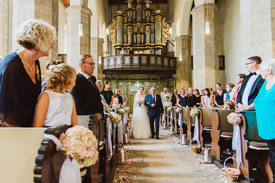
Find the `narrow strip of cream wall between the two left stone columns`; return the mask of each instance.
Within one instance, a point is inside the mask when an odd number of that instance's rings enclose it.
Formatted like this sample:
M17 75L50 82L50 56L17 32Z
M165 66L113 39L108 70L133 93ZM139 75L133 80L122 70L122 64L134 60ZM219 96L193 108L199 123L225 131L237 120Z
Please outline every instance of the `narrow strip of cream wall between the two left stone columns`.
M60 2L58 3L58 9L58 54L64 54L64 25L67 21L67 13Z

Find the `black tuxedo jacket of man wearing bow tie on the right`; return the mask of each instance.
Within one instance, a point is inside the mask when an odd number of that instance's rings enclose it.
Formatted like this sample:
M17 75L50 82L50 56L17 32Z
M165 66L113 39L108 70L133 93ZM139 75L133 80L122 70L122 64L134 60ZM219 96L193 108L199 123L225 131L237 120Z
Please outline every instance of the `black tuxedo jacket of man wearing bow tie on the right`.
M237 95L237 104L238 103L242 103L242 96L243 96L243 93L244 93L244 90L245 90L245 87L246 87L246 84L249 80L249 78L251 77L251 75L247 75L245 77L245 79L243 80L242 82L242 86L241 86L241 89ZM249 96L248 96L248 105L252 104L254 102L254 99L257 97L258 93L259 93L259 90L260 88L262 87L262 84L264 83L264 79L262 78L261 75L259 75L257 77L257 79L255 80L255 82L253 83L252 85L252 88L250 90L250 93L249 93Z

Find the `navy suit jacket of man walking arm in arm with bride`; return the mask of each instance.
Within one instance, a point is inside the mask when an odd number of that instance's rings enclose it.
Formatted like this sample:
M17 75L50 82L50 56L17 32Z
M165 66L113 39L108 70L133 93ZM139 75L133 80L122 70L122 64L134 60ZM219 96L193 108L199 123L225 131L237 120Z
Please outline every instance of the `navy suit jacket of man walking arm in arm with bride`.
M161 96L158 94L156 95L156 103L153 100L153 96L151 94L146 95L145 97L145 106L148 107L148 116L154 116L155 114L160 116L161 113L164 113L163 105L161 102ZM149 102L149 104L147 103ZM155 103L155 107L152 107L152 104Z

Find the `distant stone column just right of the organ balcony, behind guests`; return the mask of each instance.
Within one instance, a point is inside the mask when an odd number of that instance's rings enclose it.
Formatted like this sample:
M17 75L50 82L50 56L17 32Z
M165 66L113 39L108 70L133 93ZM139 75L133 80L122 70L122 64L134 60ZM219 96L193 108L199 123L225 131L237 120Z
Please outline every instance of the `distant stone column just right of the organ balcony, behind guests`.
M175 37L175 57L177 57L176 89L191 87L191 39L189 35ZM182 54L182 61L179 60ZM173 91L174 92L174 91ZM173 93L171 92L171 93Z

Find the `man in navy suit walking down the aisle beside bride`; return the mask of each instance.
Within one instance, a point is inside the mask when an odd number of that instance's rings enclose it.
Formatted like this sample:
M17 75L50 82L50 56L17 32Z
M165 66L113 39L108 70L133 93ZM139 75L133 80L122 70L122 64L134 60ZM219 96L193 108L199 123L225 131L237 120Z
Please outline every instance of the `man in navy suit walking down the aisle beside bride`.
M152 86L151 88L151 94L147 95L145 97L145 106L148 107L148 116L149 116L149 122L150 122L150 128L152 137L159 139L159 117L160 115L164 113L163 105L161 102L161 96L156 94L157 88L155 86ZM154 128L154 121L156 130Z

